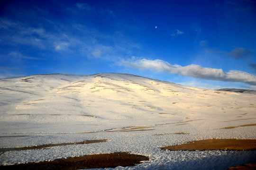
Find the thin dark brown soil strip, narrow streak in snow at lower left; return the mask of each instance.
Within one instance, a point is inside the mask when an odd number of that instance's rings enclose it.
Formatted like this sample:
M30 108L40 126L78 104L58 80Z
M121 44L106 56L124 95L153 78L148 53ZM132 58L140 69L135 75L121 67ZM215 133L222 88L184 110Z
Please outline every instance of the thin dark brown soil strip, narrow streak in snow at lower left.
M17 147L17 148L0 148L0 152L6 151L18 151L18 150L30 150L30 149L43 149L53 146L64 146L64 145L71 145L71 144L92 144L92 143L100 143L100 142L107 142L107 139L101 140L87 140L83 142L75 142L75 143L62 143L62 144L43 144L39 146L28 146L28 147Z

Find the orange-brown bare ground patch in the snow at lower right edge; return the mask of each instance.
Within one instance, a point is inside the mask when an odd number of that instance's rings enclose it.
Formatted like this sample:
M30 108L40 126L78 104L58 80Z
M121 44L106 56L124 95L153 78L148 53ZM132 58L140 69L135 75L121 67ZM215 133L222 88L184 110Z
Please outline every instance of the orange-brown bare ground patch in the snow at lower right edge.
M256 150L256 139L206 139L192 141L187 144L162 147L172 151L204 151L204 150Z

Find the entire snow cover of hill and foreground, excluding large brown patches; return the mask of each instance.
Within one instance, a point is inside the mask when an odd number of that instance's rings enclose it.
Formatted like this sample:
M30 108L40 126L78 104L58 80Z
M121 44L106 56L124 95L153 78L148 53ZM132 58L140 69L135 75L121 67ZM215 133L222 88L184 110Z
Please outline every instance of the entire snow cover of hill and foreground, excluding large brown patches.
M160 149L211 138L256 139L256 94L230 91L115 73L1 79L0 148L108 142L2 152L0 165L125 151L150 160L116 169L223 170L251 163L256 151Z

